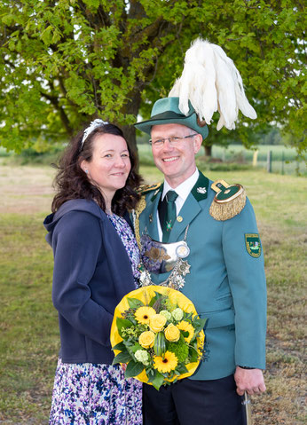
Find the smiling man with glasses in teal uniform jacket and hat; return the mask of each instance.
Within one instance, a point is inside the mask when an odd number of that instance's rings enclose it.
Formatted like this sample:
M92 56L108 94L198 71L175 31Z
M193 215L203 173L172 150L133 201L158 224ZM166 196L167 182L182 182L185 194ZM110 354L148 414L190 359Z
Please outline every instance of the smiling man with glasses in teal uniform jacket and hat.
M151 119L135 124L151 134L153 160L164 175L162 185L144 191L137 236L141 242L148 237L160 241L166 250L168 244L185 241L190 268L178 288L208 319L205 354L196 373L159 391L144 385L144 423L241 425L241 396L265 390L264 257L242 187L223 180L213 184L196 168L195 154L208 127L189 106L182 114L179 98L161 98ZM175 216L169 218L174 203ZM147 264L148 249L142 256ZM151 273L154 284L171 284L166 270L161 264L160 273Z

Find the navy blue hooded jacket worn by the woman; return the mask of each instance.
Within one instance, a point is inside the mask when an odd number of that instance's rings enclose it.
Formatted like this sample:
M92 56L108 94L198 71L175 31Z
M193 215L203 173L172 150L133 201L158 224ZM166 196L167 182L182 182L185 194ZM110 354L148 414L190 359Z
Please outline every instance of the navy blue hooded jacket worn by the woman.
M135 289L122 240L94 201L67 201L43 224L54 256L59 357L64 363L111 364L114 308Z

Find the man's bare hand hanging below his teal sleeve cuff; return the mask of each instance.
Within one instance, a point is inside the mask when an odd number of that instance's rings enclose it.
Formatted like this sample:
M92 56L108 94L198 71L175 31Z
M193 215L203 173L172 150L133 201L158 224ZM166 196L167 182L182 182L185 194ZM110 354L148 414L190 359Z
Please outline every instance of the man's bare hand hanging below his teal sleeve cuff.
M234 380L237 384L237 393L239 396L243 396L244 391L252 395L266 390L264 375L261 369L242 369L240 366L237 366Z

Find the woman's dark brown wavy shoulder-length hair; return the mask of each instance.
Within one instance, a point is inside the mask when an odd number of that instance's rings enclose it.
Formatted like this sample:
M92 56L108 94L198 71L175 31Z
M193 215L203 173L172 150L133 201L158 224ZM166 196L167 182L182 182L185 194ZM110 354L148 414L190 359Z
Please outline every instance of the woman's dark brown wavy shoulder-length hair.
M71 140L59 160L59 165L55 165L59 171L53 182L57 193L52 201L52 212L57 211L64 202L75 199L94 200L101 209L106 209L106 202L102 193L99 191L97 185L90 182L86 173L81 168L81 162L83 160L91 161L94 140L98 135L113 134L114 136L121 136L123 138L122 130L114 124L105 123L99 125L95 130L91 131L91 134L85 138L82 144L84 130L80 131ZM114 143L116 142L114 141ZM127 146L131 163L130 173L126 184L122 189L116 191L112 200L112 210L119 216L122 216L126 209L133 209L136 206L140 198L136 189L142 181L142 178L137 172L137 158L131 151L128 143Z

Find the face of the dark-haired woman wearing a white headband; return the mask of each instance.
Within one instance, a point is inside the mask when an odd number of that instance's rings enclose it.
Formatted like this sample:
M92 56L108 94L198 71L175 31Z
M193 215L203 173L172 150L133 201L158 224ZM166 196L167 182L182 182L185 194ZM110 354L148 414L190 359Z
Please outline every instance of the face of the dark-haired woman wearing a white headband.
M91 161L83 160L81 168L97 185L106 200L126 184L131 163L126 140L113 134L98 134L93 141Z

